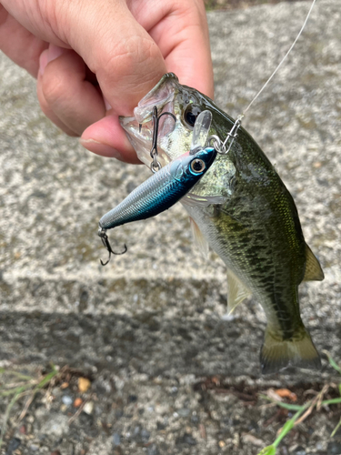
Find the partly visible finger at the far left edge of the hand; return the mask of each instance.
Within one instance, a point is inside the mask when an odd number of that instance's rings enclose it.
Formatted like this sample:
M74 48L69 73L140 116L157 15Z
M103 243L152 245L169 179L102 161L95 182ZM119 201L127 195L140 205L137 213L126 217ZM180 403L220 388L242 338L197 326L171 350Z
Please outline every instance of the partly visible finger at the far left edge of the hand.
M16 65L22 66L30 75L36 77L39 56L47 46L45 41L32 35L0 5L0 49Z

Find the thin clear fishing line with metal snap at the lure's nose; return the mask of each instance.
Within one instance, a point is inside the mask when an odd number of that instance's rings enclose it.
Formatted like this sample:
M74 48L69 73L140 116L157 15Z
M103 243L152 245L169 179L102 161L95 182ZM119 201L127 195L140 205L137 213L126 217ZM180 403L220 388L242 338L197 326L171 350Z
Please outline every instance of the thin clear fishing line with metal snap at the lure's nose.
M306 20L305 22L303 23L300 31L298 32L298 35L296 36L296 39L294 41L294 43L290 46L289 50L286 52L286 55L282 58L282 60L279 62L279 64L276 66L276 69L275 71L273 72L273 74L267 79L266 83L264 86L262 86L262 88L259 90L259 92L256 94L256 96L252 99L251 103L246 107L245 111L243 112L243 114L240 114L239 116L236 117L236 122L234 124L234 126L232 126L231 130L229 133L227 133L227 136L226 136L226 139L224 141L224 143L222 144L222 141L219 139L219 137L217 136L210 136L208 137L208 141L212 141L214 146L216 147L216 150L217 152L220 154L220 155L226 155L226 153L228 153L232 147L232 144L234 143L235 139L236 139L236 136L237 136L237 132L238 132L238 129L239 127L242 125L242 120L244 118L244 116L246 115L246 112L248 111L248 109L254 104L254 102L256 101L257 97L263 92L263 90L266 88L266 86L268 85L268 83L271 81L271 79L276 75L276 72L279 70L279 68L283 65L283 63L285 62L286 60L286 57L290 54L290 52L293 50L294 46L296 45L296 42L298 40L298 38L300 37L300 35L302 35L302 32L303 30L305 29L306 27L306 23L309 19L309 16L314 8L314 5L316 4L316 0L313 0L313 3L311 4L310 6L310 9L308 11L308 14L306 15ZM227 147L227 148L226 148Z

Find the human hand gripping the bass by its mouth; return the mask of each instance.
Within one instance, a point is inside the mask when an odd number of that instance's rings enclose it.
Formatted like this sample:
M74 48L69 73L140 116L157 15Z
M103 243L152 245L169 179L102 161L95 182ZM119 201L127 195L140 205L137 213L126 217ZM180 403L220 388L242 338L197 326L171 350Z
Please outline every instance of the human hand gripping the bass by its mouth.
M0 49L37 77L55 125L126 162L138 159L118 116L162 75L213 96L202 0L1 0Z

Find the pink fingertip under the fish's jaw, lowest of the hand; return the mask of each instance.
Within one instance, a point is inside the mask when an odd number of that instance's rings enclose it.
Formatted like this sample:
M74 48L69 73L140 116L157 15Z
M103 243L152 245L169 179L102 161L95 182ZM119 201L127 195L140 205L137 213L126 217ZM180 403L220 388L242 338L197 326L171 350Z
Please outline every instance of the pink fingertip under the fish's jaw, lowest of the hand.
M108 115L85 129L80 143L83 147L103 157L115 157L126 163L140 163L118 116Z

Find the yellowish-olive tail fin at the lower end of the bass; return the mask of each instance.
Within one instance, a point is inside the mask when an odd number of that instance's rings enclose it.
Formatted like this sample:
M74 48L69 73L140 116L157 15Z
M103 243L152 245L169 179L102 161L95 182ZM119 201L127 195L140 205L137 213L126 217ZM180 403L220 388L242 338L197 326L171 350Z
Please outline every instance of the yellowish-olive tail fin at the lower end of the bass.
M275 373L286 367L320 369L321 360L310 335L302 326L291 339L274 337L269 328L260 353L262 373Z

